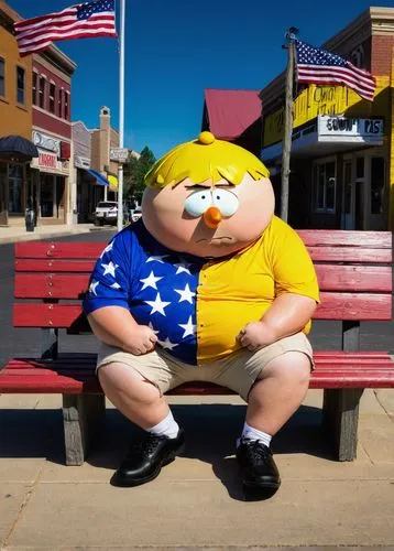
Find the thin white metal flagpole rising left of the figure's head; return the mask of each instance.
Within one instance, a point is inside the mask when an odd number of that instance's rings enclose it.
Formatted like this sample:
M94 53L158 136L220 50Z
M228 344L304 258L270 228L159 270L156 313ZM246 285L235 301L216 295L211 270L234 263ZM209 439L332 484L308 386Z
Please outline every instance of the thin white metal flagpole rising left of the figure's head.
M119 147L124 147L124 28L125 0L120 0L120 52L119 52ZM123 163L118 171L118 231L123 228Z

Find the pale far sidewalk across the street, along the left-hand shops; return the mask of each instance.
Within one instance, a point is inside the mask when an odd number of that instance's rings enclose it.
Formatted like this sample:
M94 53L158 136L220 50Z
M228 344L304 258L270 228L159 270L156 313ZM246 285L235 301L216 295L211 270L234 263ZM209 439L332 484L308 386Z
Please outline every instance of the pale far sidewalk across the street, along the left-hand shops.
M24 226L0 227L0 245L17 241L36 241L40 239L52 239L53 237L72 236L76 234L89 234L94 230L113 229L113 226L96 227L92 224L78 224L68 226L59 224L56 226L37 226L34 231L26 231Z

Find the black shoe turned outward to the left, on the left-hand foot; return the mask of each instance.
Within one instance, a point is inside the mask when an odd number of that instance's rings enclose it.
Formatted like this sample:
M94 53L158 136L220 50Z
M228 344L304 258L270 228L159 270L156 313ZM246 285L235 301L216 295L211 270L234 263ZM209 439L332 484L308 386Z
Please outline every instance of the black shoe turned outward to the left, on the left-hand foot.
M185 447L180 429L176 439L147 433L131 446L127 457L111 478L113 486L139 486L158 476L162 467L175 460Z

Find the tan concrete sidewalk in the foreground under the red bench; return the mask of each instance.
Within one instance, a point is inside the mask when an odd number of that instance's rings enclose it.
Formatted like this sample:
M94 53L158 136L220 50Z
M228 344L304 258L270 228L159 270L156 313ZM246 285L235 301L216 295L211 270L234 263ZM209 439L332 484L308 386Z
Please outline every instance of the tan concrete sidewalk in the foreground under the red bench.
M0 396L1 549L394 550L394 392L364 392L353 463L333 461L322 440L321 398L309 391L274 440L277 494L247 503L233 457L238 398L173 397L186 454L151 484L114 488L132 436L116 410L88 462L66 467L61 397Z

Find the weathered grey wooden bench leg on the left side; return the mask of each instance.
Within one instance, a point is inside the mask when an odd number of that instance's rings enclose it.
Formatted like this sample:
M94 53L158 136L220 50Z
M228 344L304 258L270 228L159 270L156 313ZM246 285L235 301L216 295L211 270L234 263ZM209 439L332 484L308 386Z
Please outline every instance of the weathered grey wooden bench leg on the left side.
M106 412L103 395L63 395L66 465L83 465Z

